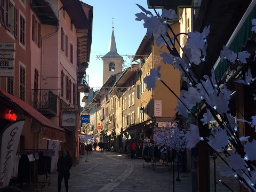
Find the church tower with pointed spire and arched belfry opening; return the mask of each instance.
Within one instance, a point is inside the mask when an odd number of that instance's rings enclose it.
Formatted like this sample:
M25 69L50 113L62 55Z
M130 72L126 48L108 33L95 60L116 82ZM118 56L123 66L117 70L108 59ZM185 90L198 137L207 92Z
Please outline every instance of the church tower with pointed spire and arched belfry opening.
M109 44L109 52L102 58L103 61L103 84L107 81L108 77L122 72L122 65L124 62L116 50L116 40L114 35L114 27L112 27L112 36Z

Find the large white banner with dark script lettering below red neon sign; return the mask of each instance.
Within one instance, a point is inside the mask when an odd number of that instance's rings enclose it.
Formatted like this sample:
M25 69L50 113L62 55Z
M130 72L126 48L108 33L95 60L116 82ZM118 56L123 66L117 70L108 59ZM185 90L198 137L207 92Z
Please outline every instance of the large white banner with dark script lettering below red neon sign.
M0 186L8 186L13 172L13 160L16 157L20 135L25 120L9 123L1 132L0 143Z

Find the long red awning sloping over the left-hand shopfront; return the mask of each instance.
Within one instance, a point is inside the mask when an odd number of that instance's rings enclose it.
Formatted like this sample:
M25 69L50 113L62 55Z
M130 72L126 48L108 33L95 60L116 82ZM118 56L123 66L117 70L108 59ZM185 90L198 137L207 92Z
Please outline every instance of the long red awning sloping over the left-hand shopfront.
M43 139L66 142L65 131L61 129L61 127L59 127L58 125L55 125L50 119L39 113L36 109L31 107L27 102L3 90L0 90L0 96L4 97L5 99L11 100L13 105L18 105L21 110L25 111L27 114L29 114L39 123L41 123L43 127Z

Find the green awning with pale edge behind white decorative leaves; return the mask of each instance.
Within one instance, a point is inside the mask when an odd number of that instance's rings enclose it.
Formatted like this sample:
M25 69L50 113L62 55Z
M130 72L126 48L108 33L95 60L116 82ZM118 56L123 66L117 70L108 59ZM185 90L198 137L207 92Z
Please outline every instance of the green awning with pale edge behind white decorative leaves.
M256 18L256 1L252 1L246 12L244 13L242 19L238 23L234 33L229 38L226 46L231 51L238 53L242 50L249 39L252 38L253 31L252 29L252 19ZM220 62L220 57L215 62L214 73L218 80L221 79L222 75L226 72L229 63L225 60Z

